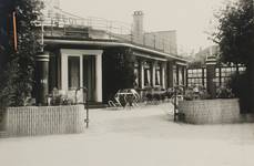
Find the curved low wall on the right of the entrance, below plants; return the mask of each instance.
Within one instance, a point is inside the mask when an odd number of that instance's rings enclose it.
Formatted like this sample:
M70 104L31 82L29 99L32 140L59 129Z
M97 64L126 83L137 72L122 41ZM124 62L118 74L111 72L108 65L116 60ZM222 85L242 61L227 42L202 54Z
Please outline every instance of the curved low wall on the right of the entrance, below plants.
M253 115L240 114L237 98L181 101L179 112L192 124L253 122Z

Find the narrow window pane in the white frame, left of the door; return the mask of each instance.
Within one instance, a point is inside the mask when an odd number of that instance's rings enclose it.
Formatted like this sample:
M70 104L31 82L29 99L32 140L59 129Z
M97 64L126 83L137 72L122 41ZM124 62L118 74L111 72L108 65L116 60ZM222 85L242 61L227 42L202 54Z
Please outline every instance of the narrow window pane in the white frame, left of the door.
M68 87L77 89L79 86L80 86L80 58L69 56L68 58Z

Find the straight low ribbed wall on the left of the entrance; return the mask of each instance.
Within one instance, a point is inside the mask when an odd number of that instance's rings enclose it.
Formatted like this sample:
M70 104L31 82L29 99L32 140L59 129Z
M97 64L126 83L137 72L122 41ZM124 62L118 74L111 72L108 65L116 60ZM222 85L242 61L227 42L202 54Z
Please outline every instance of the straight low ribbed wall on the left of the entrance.
M9 107L3 127L8 136L81 133L84 118L83 105Z

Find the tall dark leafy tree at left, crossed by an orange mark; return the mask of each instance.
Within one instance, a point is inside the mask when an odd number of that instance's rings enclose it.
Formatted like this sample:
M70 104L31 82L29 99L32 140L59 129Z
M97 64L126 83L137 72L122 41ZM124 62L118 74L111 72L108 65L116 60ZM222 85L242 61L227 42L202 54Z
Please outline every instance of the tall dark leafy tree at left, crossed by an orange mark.
M2 3L6 9L1 20L8 22L8 43L1 45L0 105L20 106L31 95L34 55L39 52L37 20L43 7L40 0L11 0ZM17 50L13 49L12 15L16 15ZM11 22L11 21L12 22Z

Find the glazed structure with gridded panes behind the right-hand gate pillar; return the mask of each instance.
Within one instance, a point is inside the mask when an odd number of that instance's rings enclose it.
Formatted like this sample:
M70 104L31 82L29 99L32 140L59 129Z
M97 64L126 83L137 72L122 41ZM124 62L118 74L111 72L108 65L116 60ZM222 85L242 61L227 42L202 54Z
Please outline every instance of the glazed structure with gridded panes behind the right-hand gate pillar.
M210 58L213 59L213 74L212 82L214 84L214 92L221 86L227 86L232 75L241 74L246 69L242 64L223 64L219 61L220 49L219 45L211 45L200 50L193 61L190 63L186 79L187 86L204 86L207 87L207 64L211 64Z

